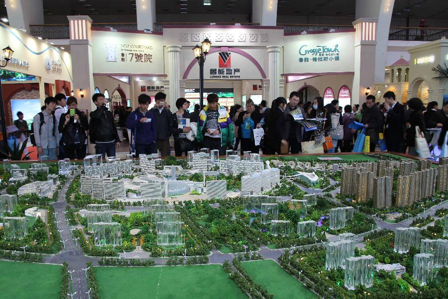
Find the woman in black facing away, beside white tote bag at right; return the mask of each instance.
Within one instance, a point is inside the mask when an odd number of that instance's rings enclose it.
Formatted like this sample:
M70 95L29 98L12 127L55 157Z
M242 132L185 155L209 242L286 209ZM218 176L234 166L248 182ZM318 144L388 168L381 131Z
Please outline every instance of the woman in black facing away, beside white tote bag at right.
M409 154L418 155L415 149L415 128L419 127L420 132L425 133L425 120L423 118L423 103L419 98L412 98L408 101L408 107L412 110L409 120L406 123L406 141L409 147Z

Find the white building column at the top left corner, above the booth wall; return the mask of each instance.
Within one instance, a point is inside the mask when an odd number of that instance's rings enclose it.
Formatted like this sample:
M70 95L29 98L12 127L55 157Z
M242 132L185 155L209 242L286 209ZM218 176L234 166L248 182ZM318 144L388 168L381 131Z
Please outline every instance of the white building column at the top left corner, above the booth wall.
M29 32L29 25L41 25L43 20L42 0L5 0L9 25Z

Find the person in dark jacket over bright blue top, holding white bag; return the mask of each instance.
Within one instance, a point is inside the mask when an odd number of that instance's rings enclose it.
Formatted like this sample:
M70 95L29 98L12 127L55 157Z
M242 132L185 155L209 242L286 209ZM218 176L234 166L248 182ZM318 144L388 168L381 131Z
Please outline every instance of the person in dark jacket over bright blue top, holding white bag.
M241 143L241 154L244 151L250 151L254 153L259 152L259 146L255 146L253 140L253 129L257 128L257 125L261 121L261 115L258 109L255 108L255 104L252 99L246 101L246 111L239 113L238 119L235 121L235 126L239 127L239 140ZM258 125L258 127L260 127Z

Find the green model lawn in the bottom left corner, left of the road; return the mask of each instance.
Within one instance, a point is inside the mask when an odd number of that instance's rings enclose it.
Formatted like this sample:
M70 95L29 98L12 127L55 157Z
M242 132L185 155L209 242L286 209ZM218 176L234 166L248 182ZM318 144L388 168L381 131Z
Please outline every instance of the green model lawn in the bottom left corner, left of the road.
M57 299L61 266L0 261L0 298Z

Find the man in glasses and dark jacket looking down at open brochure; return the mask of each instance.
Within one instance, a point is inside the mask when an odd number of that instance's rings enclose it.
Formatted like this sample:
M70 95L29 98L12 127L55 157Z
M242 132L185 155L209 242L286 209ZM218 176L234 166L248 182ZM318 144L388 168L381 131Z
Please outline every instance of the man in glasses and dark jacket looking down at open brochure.
M294 121L292 115L288 115L291 111L300 109L302 116L305 115L305 111L299 106L300 98L297 91L293 91L289 95L289 103L285 108L285 135L283 136L289 142L291 147L291 153L299 153L302 151L302 125Z

